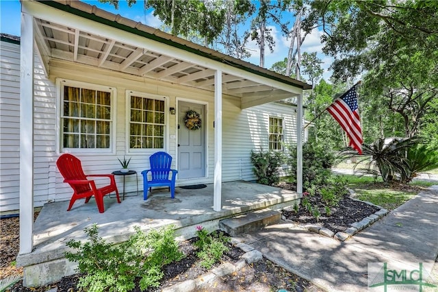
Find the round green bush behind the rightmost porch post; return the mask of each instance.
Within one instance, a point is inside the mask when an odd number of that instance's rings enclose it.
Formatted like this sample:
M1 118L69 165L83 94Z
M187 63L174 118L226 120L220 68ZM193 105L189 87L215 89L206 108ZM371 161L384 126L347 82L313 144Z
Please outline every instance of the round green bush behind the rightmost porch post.
M296 145L288 145L287 164L290 177L296 182ZM335 156L331 150L322 145L304 143L302 145L302 184L305 188L323 186L331 176L331 167Z

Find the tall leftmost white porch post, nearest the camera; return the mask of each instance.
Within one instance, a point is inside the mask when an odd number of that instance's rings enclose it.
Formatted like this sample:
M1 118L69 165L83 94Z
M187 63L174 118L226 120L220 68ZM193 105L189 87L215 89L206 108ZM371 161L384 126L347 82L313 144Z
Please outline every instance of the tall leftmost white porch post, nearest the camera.
M21 14L20 254L34 245L34 17Z

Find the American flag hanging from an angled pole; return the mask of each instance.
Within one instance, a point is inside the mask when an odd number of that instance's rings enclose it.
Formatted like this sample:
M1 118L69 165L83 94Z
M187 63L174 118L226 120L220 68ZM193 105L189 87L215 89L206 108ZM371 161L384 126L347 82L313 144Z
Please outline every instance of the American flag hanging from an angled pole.
M350 138L348 146L362 154L362 129L359 108L357 107L356 86L353 86L342 97L339 97L327 108L330 114L341 125Z

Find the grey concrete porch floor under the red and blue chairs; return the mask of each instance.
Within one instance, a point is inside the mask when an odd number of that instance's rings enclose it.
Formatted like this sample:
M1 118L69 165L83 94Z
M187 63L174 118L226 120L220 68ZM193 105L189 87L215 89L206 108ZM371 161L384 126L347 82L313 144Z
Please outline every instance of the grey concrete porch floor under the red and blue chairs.
M88 204L77 200L69 212L68 202L45 204L34 223L34 251L17 257L17 265L24 267L24 284L39 286L75 273L75 265L64 258L66 242L86 240L83 230L94 223L99 226L99 236L113 243L126 241L134 226L147 231L170 224L178 239L188 239L195 236L198 225L213 231L222 219L262 208L281 210L300 198L294 191L243 181L222 183L220 212L213 210L213 184L199 189L177 187L175 199L170 198L168 188L153 189L146 201L142 191L127 195L122 200L120 193L121 204L113 195L105 196L103 213L94 199Z

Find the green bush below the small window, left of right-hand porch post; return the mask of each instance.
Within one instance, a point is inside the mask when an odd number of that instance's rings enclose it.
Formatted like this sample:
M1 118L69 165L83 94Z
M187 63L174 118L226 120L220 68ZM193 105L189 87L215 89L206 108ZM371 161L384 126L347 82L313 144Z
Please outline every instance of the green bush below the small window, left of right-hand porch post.
M253 172L257 177L259 184L278 184L280 181L279 167L283 163L284 156L281 152L276 151L259 151L251 150L251 163L253 163Z

